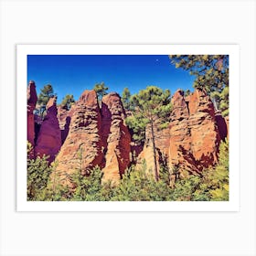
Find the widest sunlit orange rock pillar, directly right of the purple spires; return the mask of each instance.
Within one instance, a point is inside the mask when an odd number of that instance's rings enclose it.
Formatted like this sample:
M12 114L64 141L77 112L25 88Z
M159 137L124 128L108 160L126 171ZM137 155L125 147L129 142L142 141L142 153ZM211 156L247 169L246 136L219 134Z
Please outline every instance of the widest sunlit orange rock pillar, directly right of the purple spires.
M104 165L101 112L95 91L83 91L73 105L69 133L56 160L61 182L73 187L70 175L80 170L87 175L94 166Z

